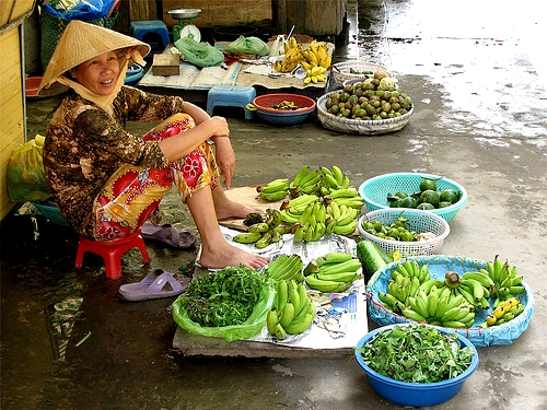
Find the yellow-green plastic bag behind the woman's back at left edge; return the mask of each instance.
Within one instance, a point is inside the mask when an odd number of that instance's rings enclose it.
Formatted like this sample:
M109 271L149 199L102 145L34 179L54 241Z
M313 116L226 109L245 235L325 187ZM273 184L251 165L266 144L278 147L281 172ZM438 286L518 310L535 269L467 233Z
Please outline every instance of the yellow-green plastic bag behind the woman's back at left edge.
M8 192L13 202L44 201L51 196L47 185L42 151L44 137L15 148L8 164Z

